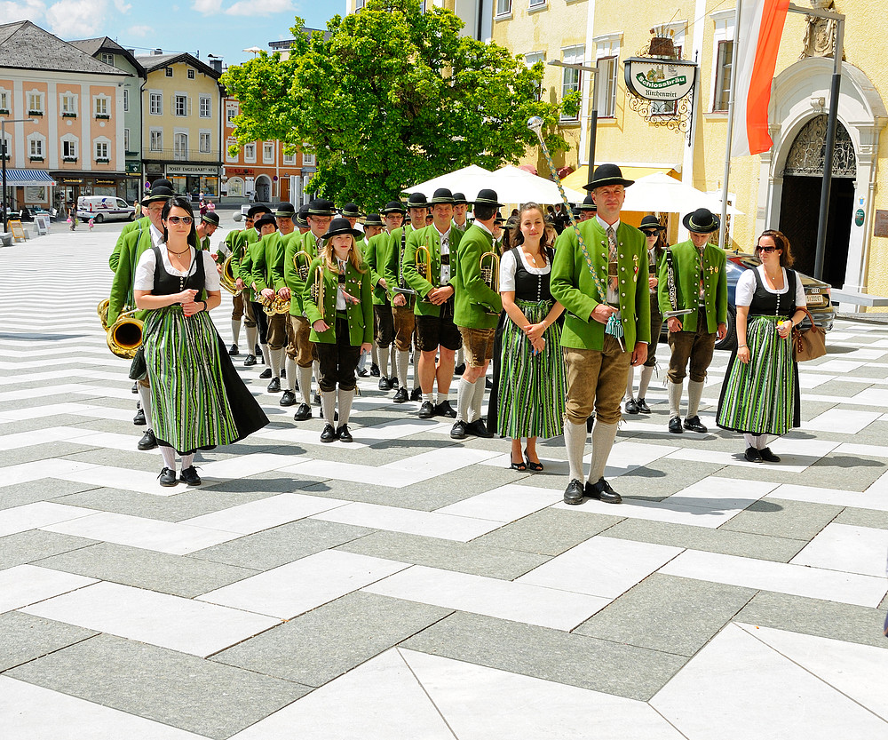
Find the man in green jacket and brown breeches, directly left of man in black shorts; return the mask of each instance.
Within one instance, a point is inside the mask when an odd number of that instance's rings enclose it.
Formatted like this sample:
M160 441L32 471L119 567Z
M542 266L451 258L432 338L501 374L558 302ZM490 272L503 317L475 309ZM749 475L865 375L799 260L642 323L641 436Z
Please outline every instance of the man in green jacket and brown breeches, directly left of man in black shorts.
M389 203L391 205L391 203ZM408 237L417 228L424 228L425 215L429 211L428 201L422 193L410 194L407 211L410 223L402 227L395 227L380 247L377 258L382 264L382 276L385 278L385 291L392 303L392 322L394 323L394 348L397 353L398 366L398 390L392 401L406 403L408 401L422 400L422 391L419 388L418 361L414 370L413 394L408 394L407 371L410 363L410 347L413 343L413 334L416 328L416 313L414 304L416 296L410 293L398 292L400 290L412 290L407 283L404 274L404 251L407 249ZM401 212L403 216L403 212ZM403 220L403 219L402 219ZM377 267L377 272L379 268ZM416 359L416 358L415 358Z

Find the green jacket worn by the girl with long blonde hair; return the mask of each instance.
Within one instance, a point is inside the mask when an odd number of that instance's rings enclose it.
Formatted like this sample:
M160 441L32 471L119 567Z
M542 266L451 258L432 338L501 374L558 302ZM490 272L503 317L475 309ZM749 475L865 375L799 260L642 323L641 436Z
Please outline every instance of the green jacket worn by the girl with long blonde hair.
M339 275L323 267L323 259L316 257L312 261L312 267L308 271L308 280L305 282L305 290L302 294L305 305L305 317L309 323L323 319L329 325L329 329L318 333L312 327L311 340L321 344L336 344L336 296ZM312 286L317 279L317 268L323 267L324 281L324 305L323 312L312 298ZM351 346L361 346L365 342L373 341L373 300L370 296L370 273L367 266L363 266L361 272L351 262L345 266L345 292L360 298L361 303L345 304L345 313L348 316L348 343Z

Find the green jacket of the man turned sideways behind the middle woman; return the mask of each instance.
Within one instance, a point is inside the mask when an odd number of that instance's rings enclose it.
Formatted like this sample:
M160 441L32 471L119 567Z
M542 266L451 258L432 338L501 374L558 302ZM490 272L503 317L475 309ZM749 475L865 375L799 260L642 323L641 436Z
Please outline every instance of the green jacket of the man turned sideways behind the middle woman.
M455 230L451 228L450 233L453 234ZM454 308L456 326L469 329L494 329L496 322L499 321L499 314L503 311L503 299L481 278L481 255L488 251L496 252L493 235L472 224L459 240L456 261L450 260L451 267L456 267L451 280L456 290ZM499 267L493 265L494 261L488 258L485 264L490 263L498 281Z

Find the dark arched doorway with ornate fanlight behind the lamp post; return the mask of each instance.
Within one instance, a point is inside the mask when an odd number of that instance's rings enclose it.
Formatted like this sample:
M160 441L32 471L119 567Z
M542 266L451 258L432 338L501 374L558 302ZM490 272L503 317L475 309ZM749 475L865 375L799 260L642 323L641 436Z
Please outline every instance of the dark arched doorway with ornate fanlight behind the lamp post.
M815 115L805 123L789 147L782 172L779 228L792 244L795 267L807 275L814 273L826 131L826 115ZM848 264L854 210L854 179L857 177L854 145L842 123L838 123L836 129L832 167L823 280L835 288L841 288Z

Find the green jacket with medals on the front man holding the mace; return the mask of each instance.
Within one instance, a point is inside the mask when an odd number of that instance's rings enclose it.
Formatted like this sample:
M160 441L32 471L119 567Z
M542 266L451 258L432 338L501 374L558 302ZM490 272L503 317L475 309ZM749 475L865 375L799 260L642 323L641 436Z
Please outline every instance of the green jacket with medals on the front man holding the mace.
M607 234L597 219L579 225L583 242L602 284L607 285ZM620 315L623 345L631 352L637 342L651 340L651 298L647 286L647 244L636 227L620 223L616 230L617 276L620 280ZM551 293L565 307L561 346L575 349L604 348L605 324L591 318L601 302L574 229L565 229L555 243Z

